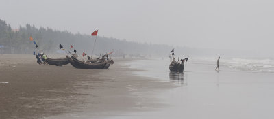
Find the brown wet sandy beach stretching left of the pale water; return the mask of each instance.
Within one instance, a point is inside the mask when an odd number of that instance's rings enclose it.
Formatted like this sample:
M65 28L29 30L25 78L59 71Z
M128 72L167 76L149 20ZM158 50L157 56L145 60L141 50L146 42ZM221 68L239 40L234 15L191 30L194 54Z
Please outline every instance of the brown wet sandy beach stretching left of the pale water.
M115 61L115 59L114 59ZM156 96L174 87L110 69L37 65L32 55L0 55L0 118L107 118L164 106Z

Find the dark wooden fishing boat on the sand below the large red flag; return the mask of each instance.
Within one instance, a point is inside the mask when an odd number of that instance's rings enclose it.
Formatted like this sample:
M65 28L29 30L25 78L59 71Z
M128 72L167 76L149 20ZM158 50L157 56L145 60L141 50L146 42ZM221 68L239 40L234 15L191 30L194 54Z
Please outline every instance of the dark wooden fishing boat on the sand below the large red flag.
M75 68L81 68L81 69L105 69L105 65L107 63L91 63L91 62L84 62L79 61L74 56L71 56L73 59L73 62L71 62L71 65Z

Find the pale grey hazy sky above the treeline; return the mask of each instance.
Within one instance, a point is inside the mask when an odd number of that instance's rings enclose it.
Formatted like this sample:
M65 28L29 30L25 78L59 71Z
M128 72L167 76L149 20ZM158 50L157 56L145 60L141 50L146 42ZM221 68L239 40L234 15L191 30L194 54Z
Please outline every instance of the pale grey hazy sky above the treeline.
M273 0L0 0L0 18L72 33L197 48L273 51Z

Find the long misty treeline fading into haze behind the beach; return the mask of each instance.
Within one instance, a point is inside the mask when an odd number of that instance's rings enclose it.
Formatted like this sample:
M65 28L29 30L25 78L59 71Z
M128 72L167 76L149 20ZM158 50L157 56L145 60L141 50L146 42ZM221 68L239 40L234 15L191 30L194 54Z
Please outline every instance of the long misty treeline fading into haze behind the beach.
M85 52L90 55L95 42L95 37L91 35L74 34L69 31L58 31L44 27L36 28L30 24L27 24L25 27L19 27L19 29L12 29L10 24L0 19L0 54L33 54L35 45L33 41L29 40L31 36L36 41L40 52L45 52L45 54L60 53L62 50L60 50L59 44L62 44L66 50L69 50L72 44L77 53L82 54L82 52ZM182 57L242 56L242 52L233 50L187 48L179 47L184 46L184 44L177 45L175 54ZM174 47L164 44L136 43L97 36L94 54L105 54L113 50L113 56L169 56L172 48ZM245 52L244 54L248 53Z

